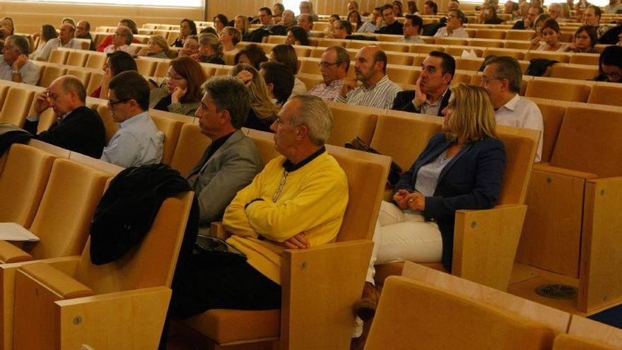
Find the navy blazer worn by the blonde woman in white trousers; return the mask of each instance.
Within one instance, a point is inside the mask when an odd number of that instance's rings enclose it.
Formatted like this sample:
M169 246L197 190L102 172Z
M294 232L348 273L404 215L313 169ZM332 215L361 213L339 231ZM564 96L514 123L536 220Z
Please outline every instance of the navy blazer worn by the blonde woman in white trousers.
M451 143L446 134L435 134L411 168L401 175L394 191L415 192L419 169L433 162ZM459 209L491 209L499 199L505 147L498 139L484 137L464 145L438 176L433 197L426 197L426 220L435 221L442 235L442 264L452 271L455 214Z

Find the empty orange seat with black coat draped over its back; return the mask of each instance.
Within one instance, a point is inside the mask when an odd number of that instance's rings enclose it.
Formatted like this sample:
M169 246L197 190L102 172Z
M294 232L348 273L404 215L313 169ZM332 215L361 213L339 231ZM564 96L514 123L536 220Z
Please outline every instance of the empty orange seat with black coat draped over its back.
M166 199L142 242L114 262L93 264L89 241L81 257L23 264L14 349L156 349L193 197Z

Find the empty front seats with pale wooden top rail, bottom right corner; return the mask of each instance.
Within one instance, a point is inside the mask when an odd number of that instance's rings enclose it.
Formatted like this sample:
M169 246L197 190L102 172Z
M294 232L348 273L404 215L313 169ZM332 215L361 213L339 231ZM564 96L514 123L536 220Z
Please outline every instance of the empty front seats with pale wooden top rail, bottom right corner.
M441 306L442 305L442 306ZM613 350L622 330L407 263L385 281L367 350Z

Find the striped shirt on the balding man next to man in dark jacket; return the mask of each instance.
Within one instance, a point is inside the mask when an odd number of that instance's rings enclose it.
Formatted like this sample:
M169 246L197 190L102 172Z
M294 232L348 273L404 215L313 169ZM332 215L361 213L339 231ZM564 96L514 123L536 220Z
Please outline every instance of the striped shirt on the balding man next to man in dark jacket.
M347 103L348 105L358 105L365 107L376 107L391 109L393 106L393 100L397 93L401 91L401 88L396 83L389 80L389 77L385 75L380 79L376 85L370 88L360 86L359 88L350 91L346 98L342 98L337 95L335 102Z

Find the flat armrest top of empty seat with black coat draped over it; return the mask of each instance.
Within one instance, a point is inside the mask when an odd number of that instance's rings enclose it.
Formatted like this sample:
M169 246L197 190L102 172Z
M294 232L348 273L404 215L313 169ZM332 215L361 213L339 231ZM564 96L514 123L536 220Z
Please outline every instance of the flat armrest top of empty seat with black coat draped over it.
M64 274L60 270L44 262L25 264L23 267L20 267L20 270L30 275L33 279L36 279L40 284L51 289L62 298L81 298L83 296L93 295L93 291L88 288L88 286L81 284L71 276Z

